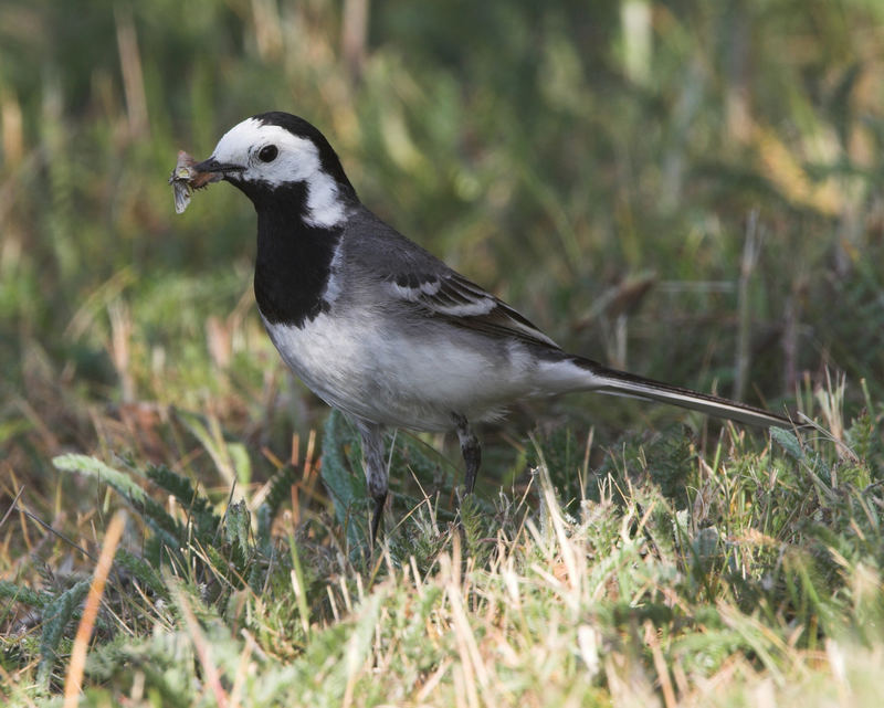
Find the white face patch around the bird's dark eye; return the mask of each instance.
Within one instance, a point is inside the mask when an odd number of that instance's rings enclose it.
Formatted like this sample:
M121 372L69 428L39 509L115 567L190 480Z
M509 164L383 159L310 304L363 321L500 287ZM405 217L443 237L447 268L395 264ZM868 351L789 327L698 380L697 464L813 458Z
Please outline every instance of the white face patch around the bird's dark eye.
M271 146L277 151L267 162L260 155ZM323 171L319 150L313 140L293 135L281 126L246 118L223 135L212 158L242 167L238 179L244 182L263 182L270 188L305 182L307 213L304 221L311 226L330 228L344 220L346 209L337 183Z

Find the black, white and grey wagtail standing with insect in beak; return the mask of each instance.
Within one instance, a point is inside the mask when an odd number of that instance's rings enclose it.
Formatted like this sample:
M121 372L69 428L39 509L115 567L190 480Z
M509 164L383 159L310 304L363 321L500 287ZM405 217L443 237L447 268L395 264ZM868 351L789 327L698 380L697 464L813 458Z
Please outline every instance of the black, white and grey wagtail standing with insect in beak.
M471 494L482 458L473 425L522 399L596 391L765 427L791 425L776 413L567 352L364 205L332 145L304 118L246 118L186 173L196 187L229 182L252 201L257 310L285 364L359 432L372 545L388 496L390 429L456 432Z

